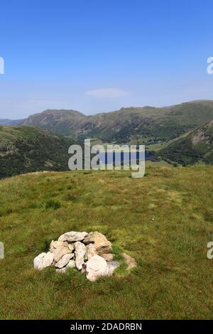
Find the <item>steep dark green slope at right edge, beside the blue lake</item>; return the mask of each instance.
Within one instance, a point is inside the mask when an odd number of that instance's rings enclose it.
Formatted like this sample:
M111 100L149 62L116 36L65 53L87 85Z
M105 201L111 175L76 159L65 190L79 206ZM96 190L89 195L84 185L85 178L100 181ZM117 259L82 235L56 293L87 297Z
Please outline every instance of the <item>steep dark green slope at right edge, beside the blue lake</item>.
M213 120L176 139L165 149L158 151L158 154L165 160L184 166L198 161L213 164Z

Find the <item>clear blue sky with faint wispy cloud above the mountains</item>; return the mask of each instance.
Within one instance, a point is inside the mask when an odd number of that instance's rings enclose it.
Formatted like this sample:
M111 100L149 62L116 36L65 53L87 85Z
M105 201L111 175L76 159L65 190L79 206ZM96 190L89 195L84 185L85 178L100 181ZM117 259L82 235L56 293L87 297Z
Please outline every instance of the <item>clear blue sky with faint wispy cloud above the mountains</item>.
M212 1L1 0L0 118L213 99Z

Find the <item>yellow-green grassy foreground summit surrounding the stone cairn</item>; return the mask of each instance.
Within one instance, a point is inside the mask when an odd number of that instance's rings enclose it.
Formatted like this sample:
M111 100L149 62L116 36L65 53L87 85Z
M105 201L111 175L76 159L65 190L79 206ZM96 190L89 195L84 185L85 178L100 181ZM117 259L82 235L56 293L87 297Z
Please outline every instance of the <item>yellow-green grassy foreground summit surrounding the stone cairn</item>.
M212 318L213 167L41 173L0 181L1 319ZM12 204L11 204L12 203ZM77 271L34 271L67 230L103 232L124 264L91 283ZM15 302L14 302L15 301Z

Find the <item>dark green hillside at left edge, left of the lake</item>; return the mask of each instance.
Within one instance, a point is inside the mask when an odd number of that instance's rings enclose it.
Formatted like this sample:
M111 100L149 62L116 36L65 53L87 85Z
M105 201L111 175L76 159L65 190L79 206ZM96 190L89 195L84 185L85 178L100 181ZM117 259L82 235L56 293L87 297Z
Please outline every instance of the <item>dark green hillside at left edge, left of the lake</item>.
M67 171L73 143L33 126L0 126L0 178L35 171Z

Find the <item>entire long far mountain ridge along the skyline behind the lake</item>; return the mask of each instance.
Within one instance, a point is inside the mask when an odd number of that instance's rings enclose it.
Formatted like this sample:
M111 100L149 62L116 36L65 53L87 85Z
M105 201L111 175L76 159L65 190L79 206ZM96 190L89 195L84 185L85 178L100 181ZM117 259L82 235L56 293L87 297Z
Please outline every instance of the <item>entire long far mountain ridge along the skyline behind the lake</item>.
M170 107L129 107L85 116L74 110L46 110L23 124L40 126L75 139L97 138L127 142L131 139L175 139L213 119L213 101L201 100Z

